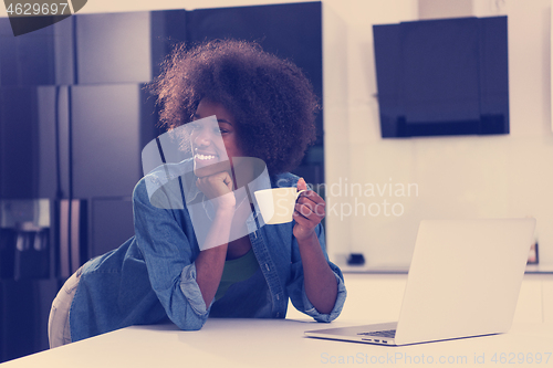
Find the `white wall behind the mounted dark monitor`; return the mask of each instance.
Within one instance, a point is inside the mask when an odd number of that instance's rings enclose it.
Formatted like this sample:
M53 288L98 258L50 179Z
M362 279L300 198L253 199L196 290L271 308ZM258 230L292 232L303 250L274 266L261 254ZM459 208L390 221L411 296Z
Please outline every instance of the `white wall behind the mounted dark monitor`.
M467 8L467 0L448 1L462 1L459 8ZM281 2L301 1L91 0L81 13ZM430 2L420 0L421 13L431 13L424 8ZM417 20L419 1L323 0L323 4L331 256L355 251L365 253L369 264L408 263L420 219L533 215L541 261L553 263L550 0L472 0L477 17L509 17L509 136L400 140L380 138L372 25ZM0 17L6 17L3 7ZM373 185L375 196L365 196L365 190L362 196L346 196L345 182ZM409 183L418 192L411 187L409 197L398 197L396 189ZM334 196L328 193L333 185ZM383 196L377 186L386 186ZM355 200L357 215L353 215ZM396 213L403 209L401 215L390 214L394 203ZM365 210L372 206L373 213L379 207L380 214L361 215L362 204ZM353 213L347 215L349 208Z

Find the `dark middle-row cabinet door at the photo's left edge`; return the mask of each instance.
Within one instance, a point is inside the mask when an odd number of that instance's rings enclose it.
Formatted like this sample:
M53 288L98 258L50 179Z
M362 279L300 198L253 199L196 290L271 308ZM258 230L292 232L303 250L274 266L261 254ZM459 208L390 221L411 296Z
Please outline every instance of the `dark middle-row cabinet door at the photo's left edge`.
M66 86L0 87L0 198L66 198Z

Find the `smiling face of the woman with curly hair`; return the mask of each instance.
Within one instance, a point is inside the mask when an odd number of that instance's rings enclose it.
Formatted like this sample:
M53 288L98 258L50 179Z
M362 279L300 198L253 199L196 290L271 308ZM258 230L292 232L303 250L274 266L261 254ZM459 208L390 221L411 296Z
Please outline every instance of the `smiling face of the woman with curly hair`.
M194 174L197 177L210 176L223 170L230 170L233 157L242 157L239 145L237 124L233 116L218 103L201 99L196 113L195 120L215 115L217 123L210 120L189 123L192 125L190 143L194 154Z

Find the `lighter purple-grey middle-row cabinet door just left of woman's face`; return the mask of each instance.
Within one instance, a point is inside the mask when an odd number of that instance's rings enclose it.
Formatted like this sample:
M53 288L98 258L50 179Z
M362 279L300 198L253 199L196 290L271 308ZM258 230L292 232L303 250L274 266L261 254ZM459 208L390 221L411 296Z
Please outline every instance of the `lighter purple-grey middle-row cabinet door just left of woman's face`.
M140 85L71 88L73 198L128 197L142 177Z

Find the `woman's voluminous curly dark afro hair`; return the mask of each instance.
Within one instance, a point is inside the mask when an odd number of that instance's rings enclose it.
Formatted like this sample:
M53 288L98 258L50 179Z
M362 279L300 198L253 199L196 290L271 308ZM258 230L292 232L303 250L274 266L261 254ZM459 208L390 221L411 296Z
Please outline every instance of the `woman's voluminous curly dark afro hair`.
M180 44L149 88L168 129L190 122L202 98L225 106L237 123L241 149L264 160L270 174L295 168L316 138L319 103L311 83L295 64L258 43Z

